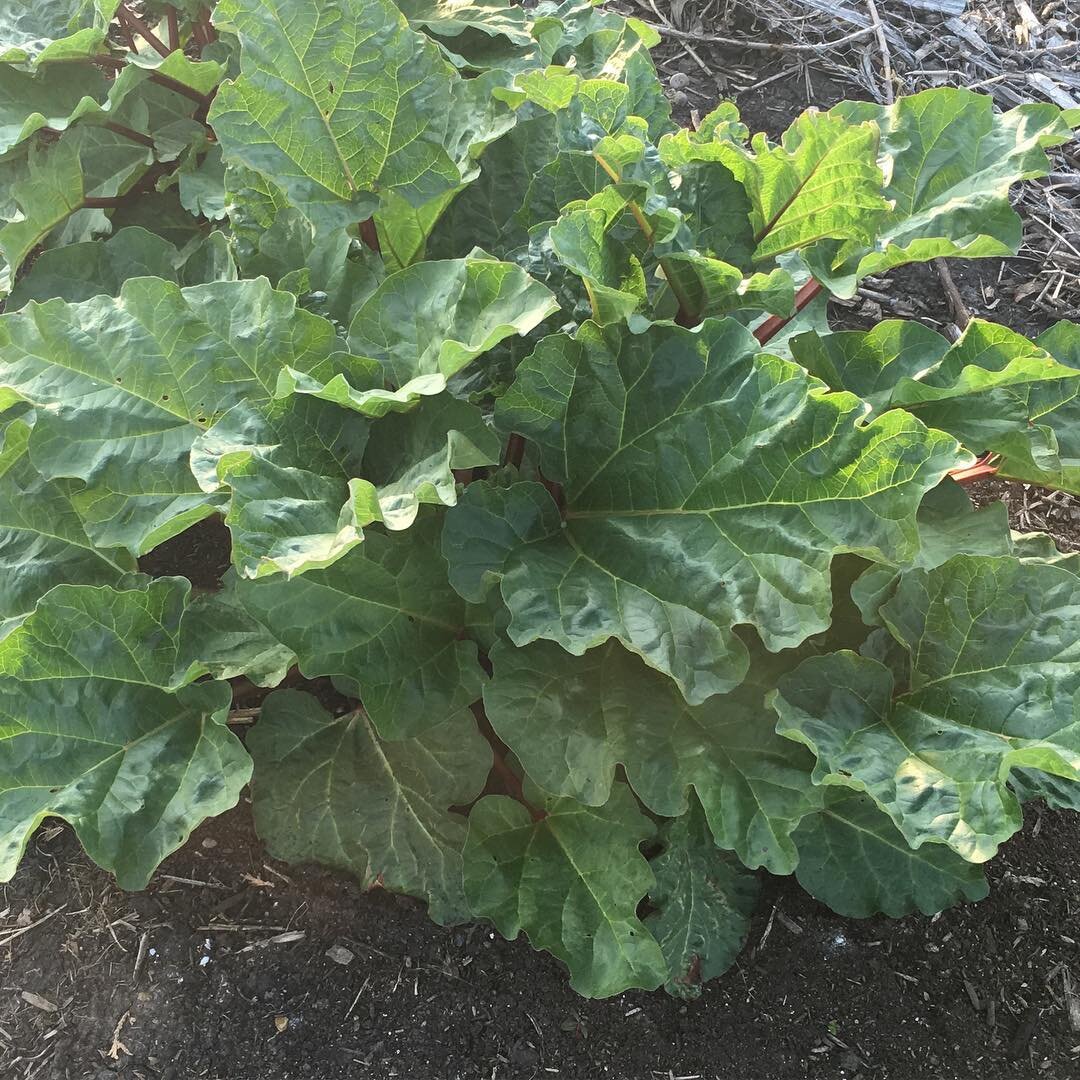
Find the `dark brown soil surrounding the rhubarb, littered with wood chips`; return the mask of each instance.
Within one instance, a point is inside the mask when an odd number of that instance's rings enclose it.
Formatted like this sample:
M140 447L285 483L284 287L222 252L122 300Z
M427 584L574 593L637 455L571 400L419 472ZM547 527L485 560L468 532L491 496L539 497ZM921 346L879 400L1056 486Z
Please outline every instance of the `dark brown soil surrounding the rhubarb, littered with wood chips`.
M879 6L897 27L910 21L906 5L895 5L900 16ZM704 13L717 33L753 26L738 2L648 8L688 25ZM997 8L1015 21L1013 4ZM1062 0L1038 10L1052 23L1055 8L1071 11ZM832 25L818 37L831 36ZM678 42L659 55L686 116L707 109L727 70L740 76L731 90L747 121L772 134L808 99L866 96L861 59L860 78L848 81L850 60L827 55L793 63L694 51L708 71ZM1080 238L1070 242L1080 247ZM1028 333L1050 325L1069 291L1034 302L1044 260L1032 251L954 266L963 303ZM843 325L892 313L944 332L956 320L923 267L872 283L833 312ZM1004 498L1016 527L1048 528L1080 550L1075 500L996 481L974 494ZM219 550L206 525L144 569L179 569L210 585ZM589 1002L524 940L504 942L482 924L442 929L407 899L268 860L246 804L207 823L135 894L91 865L70 829L46 823L0 887L0 1076L1077 1080L1080 819L1029 807L990 878L981 904L865 921L772 879L738 964L701 1001Z

